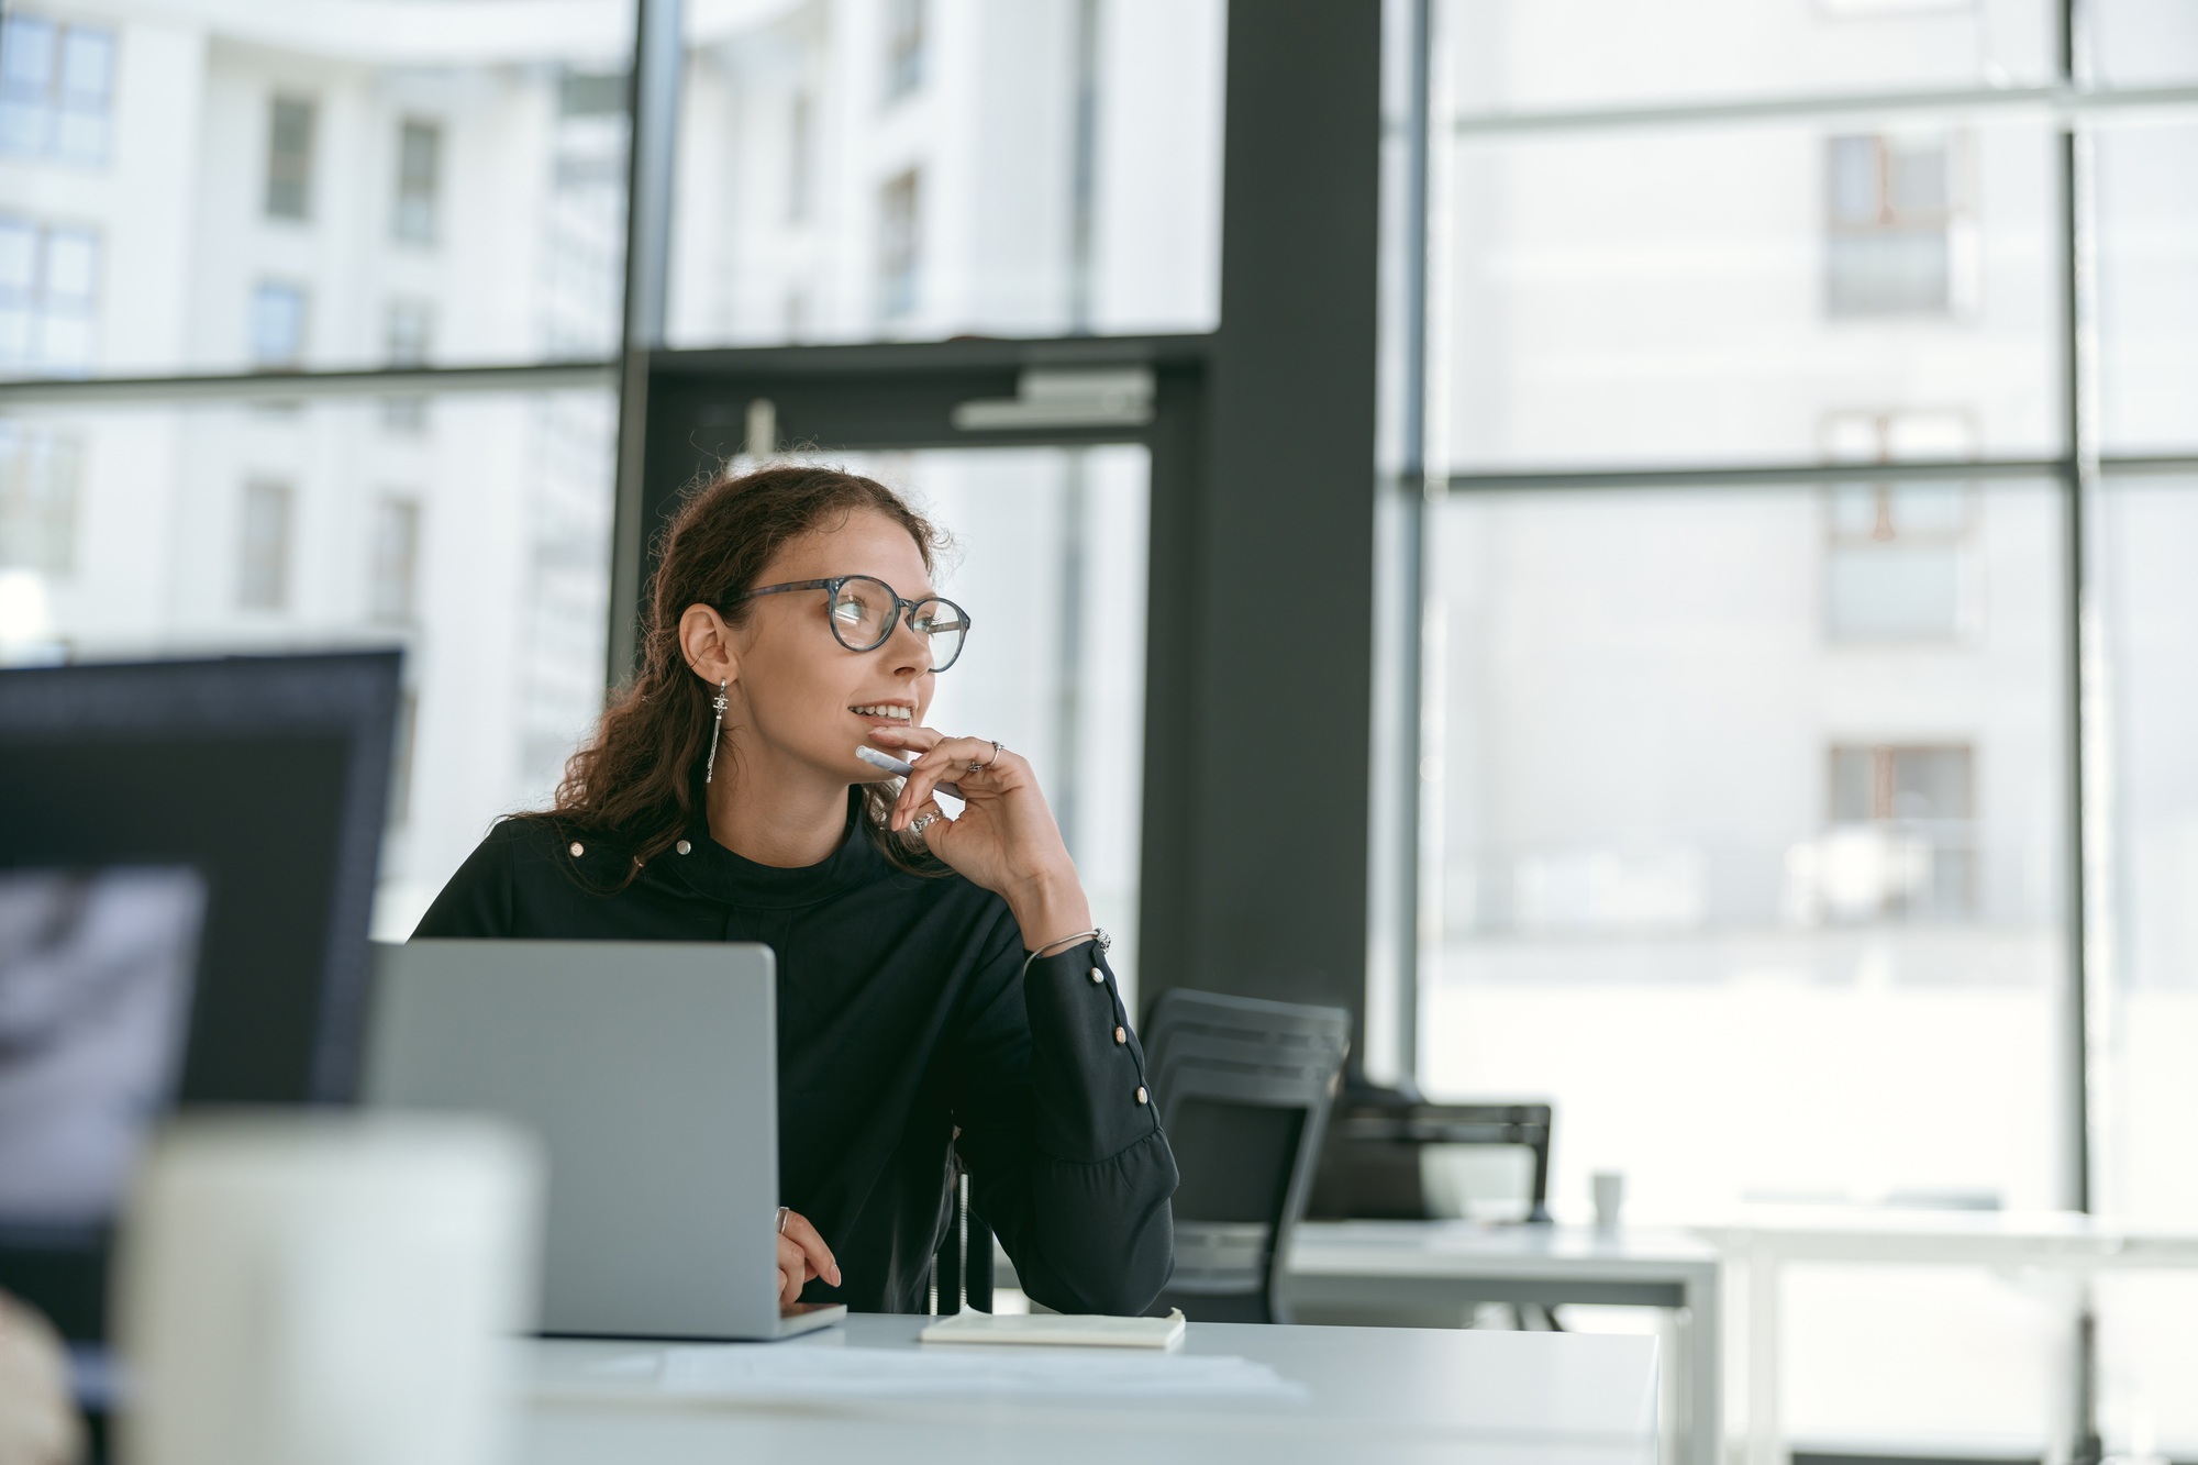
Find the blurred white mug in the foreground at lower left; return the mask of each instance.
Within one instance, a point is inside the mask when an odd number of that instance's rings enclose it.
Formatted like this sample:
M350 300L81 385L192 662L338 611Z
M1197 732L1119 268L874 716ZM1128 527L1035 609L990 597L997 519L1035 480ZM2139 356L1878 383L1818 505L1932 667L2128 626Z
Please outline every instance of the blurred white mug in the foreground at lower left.
M488 1120L231 1115L123 1227L132 1465L490 1465L534 1322L541 1157Z

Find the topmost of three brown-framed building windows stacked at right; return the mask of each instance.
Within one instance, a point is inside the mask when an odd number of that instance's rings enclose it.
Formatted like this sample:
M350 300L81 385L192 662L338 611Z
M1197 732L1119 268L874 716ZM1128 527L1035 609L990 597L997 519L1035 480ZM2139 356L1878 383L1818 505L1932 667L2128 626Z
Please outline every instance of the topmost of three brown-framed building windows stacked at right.
M1835 319L1974 308L1976 231L1956 143L1947 132L1831 139L1824 304Z

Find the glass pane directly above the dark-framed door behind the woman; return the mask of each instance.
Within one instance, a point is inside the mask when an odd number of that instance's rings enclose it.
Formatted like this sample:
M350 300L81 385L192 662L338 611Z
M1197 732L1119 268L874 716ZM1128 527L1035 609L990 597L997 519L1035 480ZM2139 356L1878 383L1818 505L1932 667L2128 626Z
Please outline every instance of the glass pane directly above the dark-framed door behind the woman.
M1211 330L1222 22L690 4L670 341Z

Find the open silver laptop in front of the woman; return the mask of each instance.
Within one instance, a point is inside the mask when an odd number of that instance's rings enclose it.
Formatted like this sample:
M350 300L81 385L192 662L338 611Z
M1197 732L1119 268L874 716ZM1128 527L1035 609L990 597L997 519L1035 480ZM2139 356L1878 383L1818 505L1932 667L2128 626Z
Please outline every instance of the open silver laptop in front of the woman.
M543 1331L789 1337L769 946L374 948L367 1104L503 1115L550 1155Z

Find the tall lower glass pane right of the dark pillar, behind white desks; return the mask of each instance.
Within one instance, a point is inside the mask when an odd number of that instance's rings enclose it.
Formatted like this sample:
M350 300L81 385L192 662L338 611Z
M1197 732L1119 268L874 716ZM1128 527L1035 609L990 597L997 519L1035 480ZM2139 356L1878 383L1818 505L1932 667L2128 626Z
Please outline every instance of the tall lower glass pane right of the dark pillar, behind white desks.
M1681 1221L2060 1203L2062 502L1930 504L1835 484L1442 508L1420 1080L1554 1100L1561 1214L1596 1170ZM1903 552L1868 539L1903 517L1963 541L1857 574ZM1961 634L1945 552L1976 585ZM1890 609L1842 623L1842 596ZM2044 1430L2060 1324L2020 1289L1842 1271L1787 1307L1802 1441ZM1857 1364L1888 1307L1925 1353L2009 1366Z

